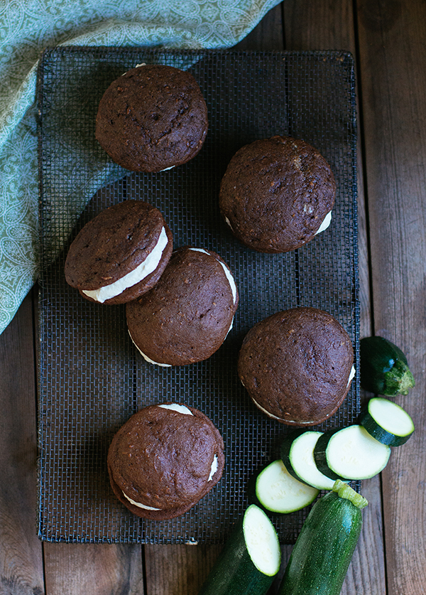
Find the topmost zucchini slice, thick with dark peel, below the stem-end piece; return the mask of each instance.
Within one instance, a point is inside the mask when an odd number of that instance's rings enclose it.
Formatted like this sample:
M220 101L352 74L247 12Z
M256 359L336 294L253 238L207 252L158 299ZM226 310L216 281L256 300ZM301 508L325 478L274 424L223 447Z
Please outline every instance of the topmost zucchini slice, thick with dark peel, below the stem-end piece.
M402 407L383 399L373 397L359 416L359 424L368 434L383 444L401 446L414 431L413 419Z

